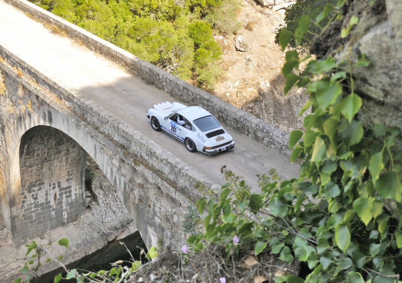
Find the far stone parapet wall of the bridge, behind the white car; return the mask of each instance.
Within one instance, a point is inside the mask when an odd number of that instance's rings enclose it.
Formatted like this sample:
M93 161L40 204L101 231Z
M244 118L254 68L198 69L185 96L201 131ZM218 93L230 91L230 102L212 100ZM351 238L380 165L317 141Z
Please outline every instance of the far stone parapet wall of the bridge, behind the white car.
M102 54L110 60L123 65L136 76L181 100L188 105L199 105L213 113L218 120L245 133L247 136L271 147L285 156L290 156L288 149L289 135L259 118L240 110L221 99L200 90L179 78L143 61L131 53L100 39L91 33L57 17L26 0L5 0L5 2L32 15L41 22L58 26L72 39L82 42L89 49Z

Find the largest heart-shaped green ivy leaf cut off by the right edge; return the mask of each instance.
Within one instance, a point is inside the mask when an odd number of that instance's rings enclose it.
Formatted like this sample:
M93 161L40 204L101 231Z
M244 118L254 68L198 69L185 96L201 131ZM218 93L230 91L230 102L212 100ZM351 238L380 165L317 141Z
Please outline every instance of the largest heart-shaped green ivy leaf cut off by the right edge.
M385 199L402 200L402 185L395 171L381 174L374 185L374 189Z

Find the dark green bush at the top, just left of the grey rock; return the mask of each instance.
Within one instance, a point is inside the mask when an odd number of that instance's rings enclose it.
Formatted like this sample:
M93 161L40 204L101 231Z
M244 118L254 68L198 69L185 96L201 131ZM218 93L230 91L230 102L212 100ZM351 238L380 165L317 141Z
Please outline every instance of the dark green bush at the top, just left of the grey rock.
M329 23L330 18L334 16L333 7L337 1L297 0L296 3L286 9L285 26L280 27L276 32L275 43L283 42L280 37L286 36L289 37L286 40L286 46L291 48L297 45L308 46L313 38L320 34L321 30ZM316 21L310 21L310 19ZM302 28L300 28L300 24ZM309 32L307 32L308 30ZM280 45L284 49L284 46Z

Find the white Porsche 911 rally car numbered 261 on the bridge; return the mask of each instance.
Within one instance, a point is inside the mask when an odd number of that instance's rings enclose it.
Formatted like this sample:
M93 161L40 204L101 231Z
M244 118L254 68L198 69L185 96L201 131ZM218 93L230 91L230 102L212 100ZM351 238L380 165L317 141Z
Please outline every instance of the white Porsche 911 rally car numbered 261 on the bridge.
M199 106L159 103L148 110L147 117L152 129L165 131L184 143L190 152L198 150L211 155L235 146L232 136L217 119Z

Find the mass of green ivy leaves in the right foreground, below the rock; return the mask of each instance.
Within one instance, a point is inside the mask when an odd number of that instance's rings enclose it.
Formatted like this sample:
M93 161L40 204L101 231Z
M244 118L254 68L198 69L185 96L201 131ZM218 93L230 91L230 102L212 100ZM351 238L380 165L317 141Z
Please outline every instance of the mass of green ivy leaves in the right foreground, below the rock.
M310 17L303 17L294 31L296 44L303 44L309 25ZM281 32L282 48L290 34ZM298 72L307 59L306 72ZM310 269L305 278L288 275L277 281L397 281L402 272L402 155L394 145L402 135L397 127L371 128L356 119L362 99L354 91L353 70L369 64L364 54L357 62L341 62L286 52L285 90L307 85L310 93L299 113L311 108L304 118L306 131L289 136L291 161L302 161L300 176L281 181L275 174L263 175L256 194L225 172L228 183L219 198L197 202L207 216L204 233L188 238L194 249L214 242L230 253L237 248L236 236L238 244L254 244L255 254L268 249L285 262L304 261Z

